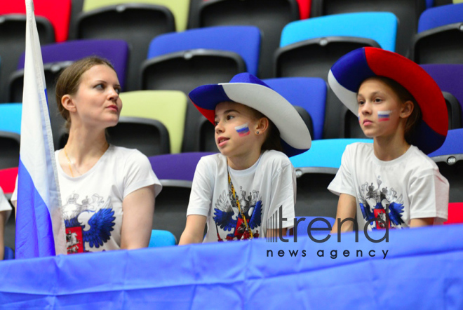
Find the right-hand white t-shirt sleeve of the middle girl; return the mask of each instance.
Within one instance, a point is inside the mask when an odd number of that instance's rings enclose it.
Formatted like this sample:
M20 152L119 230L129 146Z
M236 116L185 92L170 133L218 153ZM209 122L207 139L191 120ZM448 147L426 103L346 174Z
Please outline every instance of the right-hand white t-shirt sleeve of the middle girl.
M282 217L286 219L282 224L282 228L290 228L294 226L296 204L296 173L289 159L287 163L283 163L281 169L276 170L276 173L271 178L271 204L269 205L269 215L276 211L282 210ZM279 222L276 223L279 228Z

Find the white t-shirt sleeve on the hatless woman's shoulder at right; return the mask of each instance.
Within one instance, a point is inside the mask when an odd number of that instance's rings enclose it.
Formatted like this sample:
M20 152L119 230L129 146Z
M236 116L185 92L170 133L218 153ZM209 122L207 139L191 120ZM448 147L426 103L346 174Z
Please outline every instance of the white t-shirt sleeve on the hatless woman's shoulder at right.
M153 172L147 156L133 150L124 166L123 198L137 189L154 184L154 197L161 192L162 185Z

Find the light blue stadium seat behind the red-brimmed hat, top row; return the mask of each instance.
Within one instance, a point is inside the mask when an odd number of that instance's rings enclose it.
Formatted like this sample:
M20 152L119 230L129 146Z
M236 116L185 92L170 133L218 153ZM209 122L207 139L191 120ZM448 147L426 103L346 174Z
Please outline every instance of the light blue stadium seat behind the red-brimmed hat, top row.
M394 51L398 20L392 13L347 13L290 22L281 32L274 75L328 78L343 55L363 46Z

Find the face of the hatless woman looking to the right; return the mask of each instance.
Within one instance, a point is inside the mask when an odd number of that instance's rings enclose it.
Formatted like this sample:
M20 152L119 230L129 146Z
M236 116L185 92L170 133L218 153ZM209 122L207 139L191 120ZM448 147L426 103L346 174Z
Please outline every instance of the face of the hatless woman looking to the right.
M122 109L121 86L116 72L107 65L91 67L81 76L77 92L71 96L76 113L72 123L103 128L116 126Z

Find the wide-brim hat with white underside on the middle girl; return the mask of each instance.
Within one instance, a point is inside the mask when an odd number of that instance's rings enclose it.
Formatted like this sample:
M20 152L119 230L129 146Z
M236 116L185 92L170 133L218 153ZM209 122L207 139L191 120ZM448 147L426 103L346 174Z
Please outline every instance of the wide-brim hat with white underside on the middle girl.
M229 83L199 86L188 96L199 112L213 124L215 107L220 102L241 103L256 109L275 124L287 156L295 156L310 149L309 129L293 105L253 74L240 73Z

